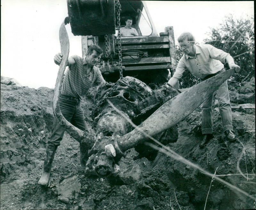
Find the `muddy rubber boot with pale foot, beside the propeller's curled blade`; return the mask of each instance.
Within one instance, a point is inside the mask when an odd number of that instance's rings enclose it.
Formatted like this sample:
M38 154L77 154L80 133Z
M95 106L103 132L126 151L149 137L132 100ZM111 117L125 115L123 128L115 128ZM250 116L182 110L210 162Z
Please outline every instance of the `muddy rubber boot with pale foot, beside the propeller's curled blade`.
M46 149L46 158L44 160L44 170L42 172L42 175L38 181L39 185L45 185L48 186L49 178L51 174L51 168L52 168L52 161L55 155L57 147L48 145Z

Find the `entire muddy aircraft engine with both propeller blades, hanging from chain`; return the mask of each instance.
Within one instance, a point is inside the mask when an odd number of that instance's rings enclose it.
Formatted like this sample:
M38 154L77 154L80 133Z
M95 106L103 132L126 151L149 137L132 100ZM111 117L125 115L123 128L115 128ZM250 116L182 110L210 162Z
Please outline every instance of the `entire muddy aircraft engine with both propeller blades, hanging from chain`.
M143 133L154 137L175 126L208 97L211 97L213 92L235 73L234 69L229 69L180 94L178 94L177 90L166 87L153 92L145 83L138 79L133 77L123 78L123 83L127 85L123 86L121 83L120 87L117 87L108 98L117 109L123 112L124 116L133 120L138 127L132 130L132 127L130 127L123 116L120 116L107 103L102 103L95 117L97 125L95 136L89 131L84 132L73 126L60 112L59 91L69 53L65 21L60 27L60 44L63 58L54 89L53 112L60 121L60 124L65 127L66 131L73 138L80 142L80 145L87 144L90 148L91 143L96 140L89 150L90 157L86 163L86 172L87 174L96 173L99 176L108 176L115 172L114 163L123 156L123 152L148 139ZM95 100L101 98L106 93L107 91L104 87L99 87ZM105 146L107 146L107 152L105 151Z

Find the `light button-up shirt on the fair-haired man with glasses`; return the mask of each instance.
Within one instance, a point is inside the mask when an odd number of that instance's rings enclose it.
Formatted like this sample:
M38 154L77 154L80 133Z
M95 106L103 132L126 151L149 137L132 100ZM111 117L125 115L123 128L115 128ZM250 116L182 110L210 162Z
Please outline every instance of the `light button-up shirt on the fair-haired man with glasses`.
M207 75L215 74L224 68L228 53L209 44L195 45L196 55L183 54L173 77L180 79L183 72L188 69L196 77L204 79Z

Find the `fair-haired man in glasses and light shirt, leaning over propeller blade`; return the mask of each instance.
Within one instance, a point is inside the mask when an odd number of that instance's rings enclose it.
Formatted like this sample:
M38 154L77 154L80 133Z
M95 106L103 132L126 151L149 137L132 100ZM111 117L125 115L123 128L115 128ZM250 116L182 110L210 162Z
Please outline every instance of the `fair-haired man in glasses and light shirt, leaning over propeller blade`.
M224 72L223 63L228 63L229 68L235 68L236 73L240 67L234 63L230 54L217 49L209 44L195 45L195 38L191 33L182 33L178 38L180 48L183 51L175 73L168 81L169 85L176 86L185 70L192 75L200 77L204 81L212 76ZM228 83L225 81L217 89L216 95L219 102L220 116L224 133L228 141L235 141L236 135L232 126L231 105L228 95ZM212 138L212 100L210 97L202 104L202 134L203 141L199 145L203 148Z

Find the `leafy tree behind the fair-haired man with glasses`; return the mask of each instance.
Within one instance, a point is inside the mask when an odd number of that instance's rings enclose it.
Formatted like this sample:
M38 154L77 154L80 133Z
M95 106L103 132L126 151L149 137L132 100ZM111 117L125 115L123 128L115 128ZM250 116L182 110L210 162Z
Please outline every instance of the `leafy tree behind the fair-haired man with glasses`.
M253 18L234 19L229 14L217 28L211 28L211 32L207 35L210 40L204 40L205 44L211 44L229 53L235 63L241 67L240 72L235 74L237 82L245 78L250 79L255 75ZM177 60L180 60L182 51L177 46L176 54ZM224 67L229 69L227 64ZM185 71L179 82L180 88L187 88L199 83L200 79L191 75L189 71Z

